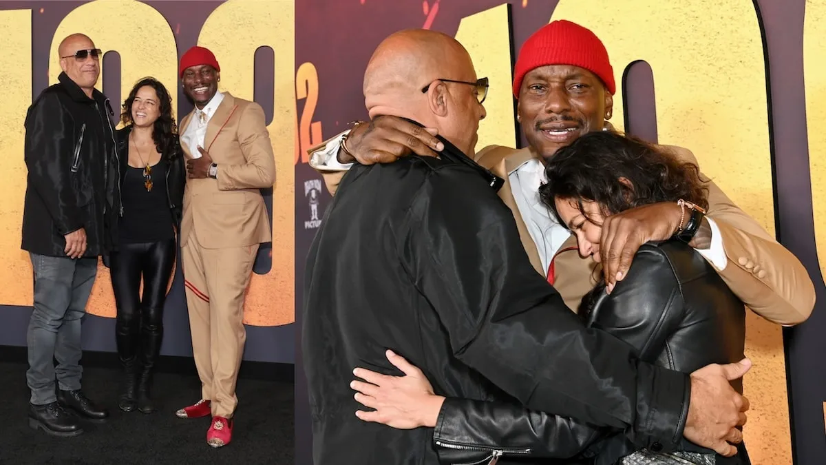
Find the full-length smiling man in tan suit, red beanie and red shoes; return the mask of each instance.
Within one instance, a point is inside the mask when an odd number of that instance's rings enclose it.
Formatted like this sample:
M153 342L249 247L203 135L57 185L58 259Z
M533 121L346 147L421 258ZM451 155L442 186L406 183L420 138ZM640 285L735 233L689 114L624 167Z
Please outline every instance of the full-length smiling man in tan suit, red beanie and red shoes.
M181 249L192 352L202 395L181 418L212 415L207 443L232 438L235 381L244 353L244 292L270 220L259 189L275 182L275 160L263 109L218 91L215 55L192 47L180 65L184 93L195 103L181 121L188 181Z

